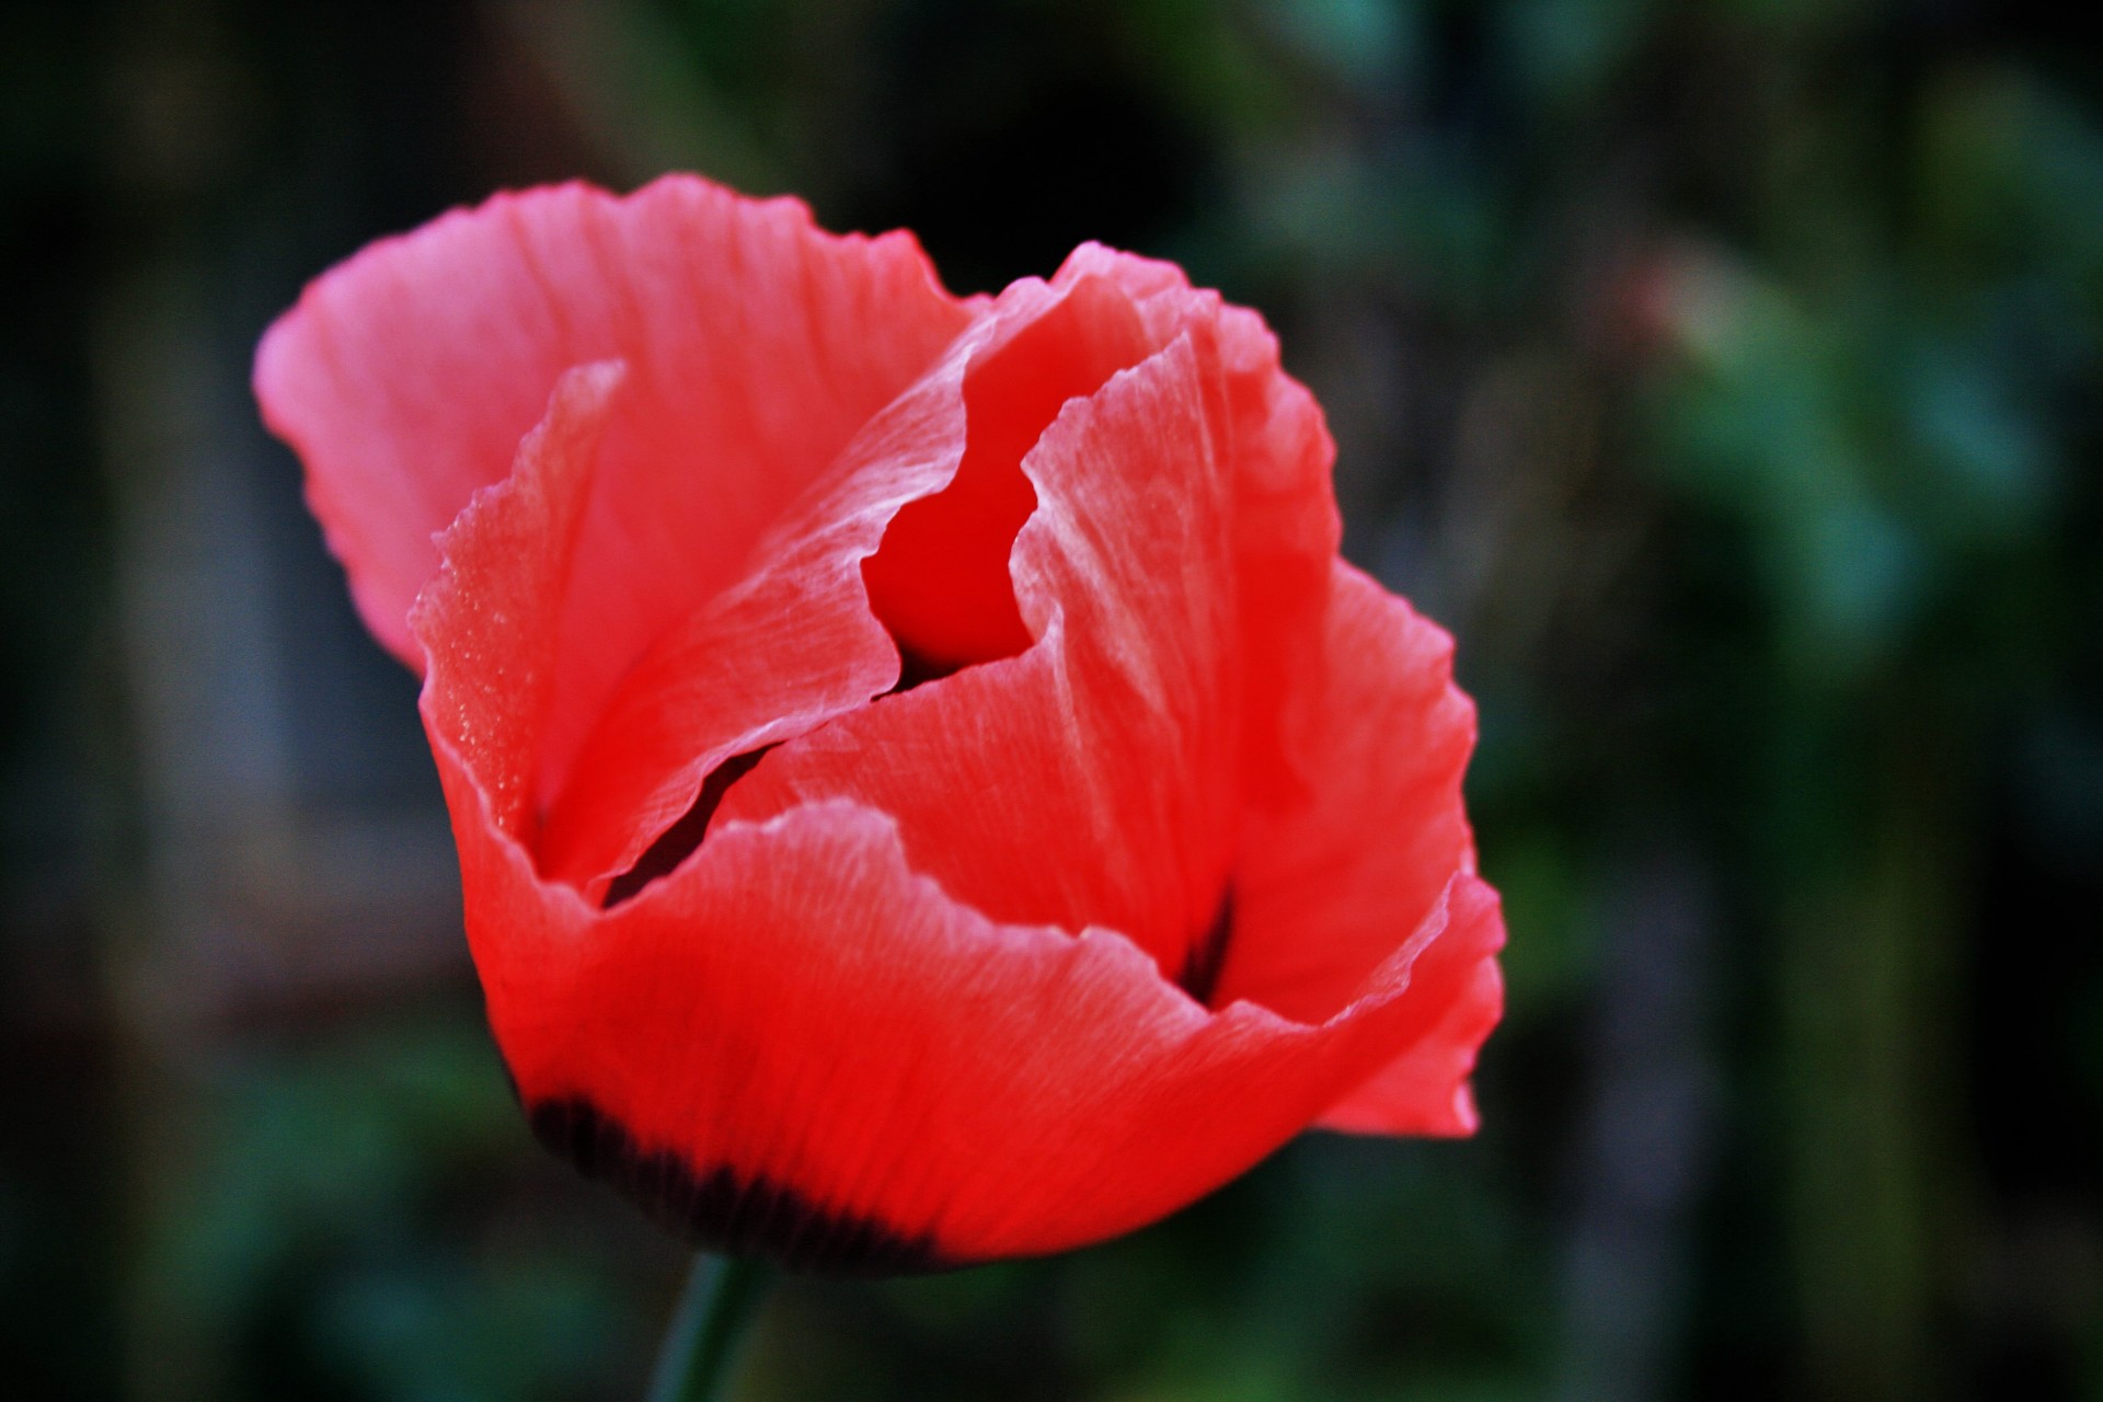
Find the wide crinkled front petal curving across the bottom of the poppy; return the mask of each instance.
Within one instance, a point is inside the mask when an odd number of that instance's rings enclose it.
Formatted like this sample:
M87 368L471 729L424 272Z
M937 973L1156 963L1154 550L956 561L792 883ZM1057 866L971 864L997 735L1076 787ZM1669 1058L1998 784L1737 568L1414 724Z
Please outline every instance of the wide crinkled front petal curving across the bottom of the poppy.
M1405 948L1323 1026L1207 1013L1110 931L1003 925L824 803L728 824L633 902L589 914L522 853L477 870L498 1040L543 1133L669 1225L839 1270L1062 1251L1247 1171L1411 1047ZM1478 944L1459 879L1422 948Z

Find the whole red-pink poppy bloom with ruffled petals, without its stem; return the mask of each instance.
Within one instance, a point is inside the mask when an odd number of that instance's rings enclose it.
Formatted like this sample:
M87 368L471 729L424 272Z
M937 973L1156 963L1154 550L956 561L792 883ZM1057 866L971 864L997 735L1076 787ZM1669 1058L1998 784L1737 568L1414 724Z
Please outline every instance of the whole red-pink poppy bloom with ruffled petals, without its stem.
M1255 313L673 177L368 248L257 393L425 673L536 1131L690 1238L1045 1253L1474 1127L1474 713Z

